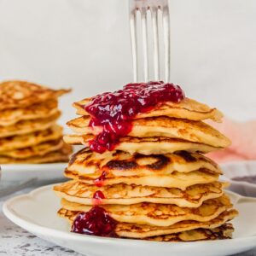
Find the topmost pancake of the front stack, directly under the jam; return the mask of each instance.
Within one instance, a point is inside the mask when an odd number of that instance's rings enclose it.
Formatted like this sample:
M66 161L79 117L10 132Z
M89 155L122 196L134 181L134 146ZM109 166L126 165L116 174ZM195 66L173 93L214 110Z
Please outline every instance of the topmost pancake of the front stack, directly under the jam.
M77 109L79 115L90 115L84 109L84 106L91 101L91 98L84 99L80 102L73 103L73 107ZM192 99L185 98L182 102L164 102L159 103L148 113L137 114L137 119L168 116L177 119L204 120L212 119L220 122L223 114L217 108L209 108L207 105L196 102Z

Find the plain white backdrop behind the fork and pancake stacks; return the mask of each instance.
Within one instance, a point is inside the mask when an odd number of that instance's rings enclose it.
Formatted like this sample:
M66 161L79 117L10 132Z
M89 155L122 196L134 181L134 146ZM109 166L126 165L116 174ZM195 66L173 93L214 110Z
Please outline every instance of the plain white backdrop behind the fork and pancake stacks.
M171 0L172 81L256 118L256 1ZM0 0L0 79L73 87L71 103L132 79L127 0Z

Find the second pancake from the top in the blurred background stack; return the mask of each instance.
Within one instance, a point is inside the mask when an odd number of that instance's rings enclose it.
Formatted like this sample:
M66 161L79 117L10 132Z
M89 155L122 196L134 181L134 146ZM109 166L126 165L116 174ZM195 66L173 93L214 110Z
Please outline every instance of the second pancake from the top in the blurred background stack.
M58 102L56 100L33 104L26 108L5 109L0 112L0 125L14 125L20 120L27 119L45 119L58 112Z

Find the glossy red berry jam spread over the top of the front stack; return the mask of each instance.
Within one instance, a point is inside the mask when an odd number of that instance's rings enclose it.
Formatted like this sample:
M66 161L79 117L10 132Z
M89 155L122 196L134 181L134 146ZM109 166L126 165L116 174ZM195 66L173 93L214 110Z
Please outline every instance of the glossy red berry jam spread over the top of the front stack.
M102 132L90 141L90 149L98 153L113 150L120 137L132 129L131 119L163 102L181 102L183 90L175 84L148 82L126 84L124 89L106 92L92 98L84 106L90 113L90 126L102 126Z

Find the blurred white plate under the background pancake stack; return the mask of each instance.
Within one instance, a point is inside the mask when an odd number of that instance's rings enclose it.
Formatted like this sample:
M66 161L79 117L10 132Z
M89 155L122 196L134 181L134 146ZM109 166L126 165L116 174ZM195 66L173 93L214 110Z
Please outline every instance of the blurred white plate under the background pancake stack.
M53 163L40 165L1 165L2 182L22 182L30 178L37 178L40 182L50 182L64 179L63 172L67 163Z

